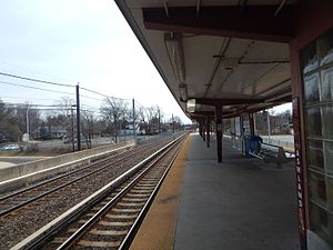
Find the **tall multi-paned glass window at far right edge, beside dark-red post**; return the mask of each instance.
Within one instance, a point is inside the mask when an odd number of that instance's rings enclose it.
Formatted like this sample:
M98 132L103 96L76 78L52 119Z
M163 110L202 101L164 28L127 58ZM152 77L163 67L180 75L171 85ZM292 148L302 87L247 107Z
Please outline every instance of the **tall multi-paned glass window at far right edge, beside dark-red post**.
M333 247L333 29L301 52L310 230Z

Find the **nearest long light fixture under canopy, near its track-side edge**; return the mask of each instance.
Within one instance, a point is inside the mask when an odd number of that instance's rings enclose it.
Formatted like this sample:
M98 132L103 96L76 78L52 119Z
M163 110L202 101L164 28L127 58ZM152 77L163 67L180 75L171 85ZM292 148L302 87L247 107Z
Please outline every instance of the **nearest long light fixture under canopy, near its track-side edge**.
M169 54L170 62L178 82L185 81L185 64L182 37L180 33L165 33L164 42Z

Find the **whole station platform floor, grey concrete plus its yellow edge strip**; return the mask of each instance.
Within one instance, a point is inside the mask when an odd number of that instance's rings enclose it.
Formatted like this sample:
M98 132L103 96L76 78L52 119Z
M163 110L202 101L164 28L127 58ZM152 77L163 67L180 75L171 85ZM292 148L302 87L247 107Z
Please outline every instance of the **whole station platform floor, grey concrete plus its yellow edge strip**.
M244 158L189 136L131 250L299 250L294 163Z

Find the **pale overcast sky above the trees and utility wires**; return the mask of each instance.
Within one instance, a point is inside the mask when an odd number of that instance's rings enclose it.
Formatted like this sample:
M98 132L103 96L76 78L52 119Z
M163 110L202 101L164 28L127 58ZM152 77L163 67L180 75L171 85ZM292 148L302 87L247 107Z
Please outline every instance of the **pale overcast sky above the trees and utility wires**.
M113 0L7 0L0 9L0 72L77 84L118 98L158 104L189 122ZM9 83L47 88L24 89ZM0 76L0 98L8 102L54 104L74 99L60 88ZM65 91L69 94L58 93ZM82 96L103 99L81 91ZM101 102L81 98L95 109Z

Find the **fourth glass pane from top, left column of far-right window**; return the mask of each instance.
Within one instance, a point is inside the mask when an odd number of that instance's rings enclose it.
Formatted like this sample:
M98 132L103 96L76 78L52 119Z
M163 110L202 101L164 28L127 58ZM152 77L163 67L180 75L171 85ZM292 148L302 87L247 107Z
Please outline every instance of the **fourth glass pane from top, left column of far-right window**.
M310 168L313 168L321 172L325 172L324 157L323 157L323 142L322 141L309 140L307 162L309 162Z

